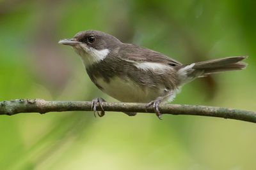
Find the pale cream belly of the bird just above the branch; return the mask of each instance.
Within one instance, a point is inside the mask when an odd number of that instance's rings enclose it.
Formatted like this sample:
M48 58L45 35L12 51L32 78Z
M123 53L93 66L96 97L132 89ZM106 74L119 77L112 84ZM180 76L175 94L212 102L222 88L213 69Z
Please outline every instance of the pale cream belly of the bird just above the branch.
M164 95L164 87L141 88L129 79L122 80L118 77L112 78L108 83L98 78L97 84L103 88L103 92L123 102L148 103Z

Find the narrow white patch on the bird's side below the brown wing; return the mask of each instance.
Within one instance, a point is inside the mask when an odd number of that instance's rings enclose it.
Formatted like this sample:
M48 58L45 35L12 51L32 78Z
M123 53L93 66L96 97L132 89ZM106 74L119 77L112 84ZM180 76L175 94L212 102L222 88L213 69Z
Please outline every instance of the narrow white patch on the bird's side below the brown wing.
M164 70L164 69L172 69L170 66L166 66L165 64L156 63L156 62L134 62L134 66L138 69L143 70Z

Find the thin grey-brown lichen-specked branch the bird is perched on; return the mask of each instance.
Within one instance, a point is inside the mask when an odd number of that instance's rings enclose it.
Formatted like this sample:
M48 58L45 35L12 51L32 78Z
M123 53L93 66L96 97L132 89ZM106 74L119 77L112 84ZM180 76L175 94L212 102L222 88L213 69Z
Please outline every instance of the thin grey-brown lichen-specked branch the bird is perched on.
M125 111L154 113L154 108L145 110L145 103L102 103L105 111ZM50 111L91 111L92 102L88 101L45 101L43 99L16 99L0 102L0 115L17 113L47 113ZM99 106L97 110L100 111ZM256 112L220 108L212 106L194 106L180 104L161 104L159 110L163 114L198 115L206 117L230 118L256 123Z

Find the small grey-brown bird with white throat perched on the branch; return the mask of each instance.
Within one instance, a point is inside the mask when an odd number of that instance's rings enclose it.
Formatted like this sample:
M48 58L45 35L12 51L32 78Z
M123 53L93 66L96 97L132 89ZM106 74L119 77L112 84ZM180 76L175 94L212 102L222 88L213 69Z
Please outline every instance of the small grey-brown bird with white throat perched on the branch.
M58 43L72 46L90 80L102 92L121 102L147 103L146 109L154 107L159 119L162 119L159 104L172 102L184 84L209 74L244 69L247 65L242 62L247 56L182 64L163 53L122 43L111 34L95 30L80 31ZM100 117L104 115L103 101L102 98L92 101L94 113L99 103Z

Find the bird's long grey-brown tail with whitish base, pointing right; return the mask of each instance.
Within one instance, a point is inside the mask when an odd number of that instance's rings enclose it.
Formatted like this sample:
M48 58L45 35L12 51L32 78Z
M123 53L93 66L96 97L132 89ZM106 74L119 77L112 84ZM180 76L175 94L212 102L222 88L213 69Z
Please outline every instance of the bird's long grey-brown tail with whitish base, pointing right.
M179 68L178 74L183 77L182 79L185 83L196 77L207 76L213 73L241 70L247 66L247 63L241 62L246 58L246 56L238 56L196 62L182 66Z

